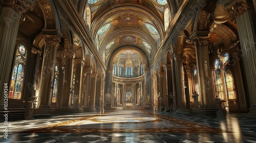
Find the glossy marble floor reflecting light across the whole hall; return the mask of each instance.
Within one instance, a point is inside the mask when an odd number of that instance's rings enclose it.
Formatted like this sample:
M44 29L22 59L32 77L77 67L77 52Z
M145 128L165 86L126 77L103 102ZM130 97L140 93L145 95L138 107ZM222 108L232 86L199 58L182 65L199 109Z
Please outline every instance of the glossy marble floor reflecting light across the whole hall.
M79 113L9 121L0 142L256 142L256 118L148 110ZM4 124L1 129L4 130Z

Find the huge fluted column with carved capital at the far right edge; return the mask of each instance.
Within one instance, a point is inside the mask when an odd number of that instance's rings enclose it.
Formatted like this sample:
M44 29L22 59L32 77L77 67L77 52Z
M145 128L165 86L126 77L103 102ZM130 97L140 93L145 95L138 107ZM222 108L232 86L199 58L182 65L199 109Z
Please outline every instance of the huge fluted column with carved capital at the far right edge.
M240 5L244 7L241 8ZM253 20L255 11L247 5L246 1L233 3L232 8L237 20L241 42L242 54L240 56L243 58L247 93L250 97L250 114L256 115L256 23Z

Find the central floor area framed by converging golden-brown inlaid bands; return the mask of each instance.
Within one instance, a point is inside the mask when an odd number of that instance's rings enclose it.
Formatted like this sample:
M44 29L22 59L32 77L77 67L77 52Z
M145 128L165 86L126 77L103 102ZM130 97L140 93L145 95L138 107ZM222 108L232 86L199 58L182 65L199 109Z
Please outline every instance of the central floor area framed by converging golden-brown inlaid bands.
M117 110L19 133L230 133L164 115Z

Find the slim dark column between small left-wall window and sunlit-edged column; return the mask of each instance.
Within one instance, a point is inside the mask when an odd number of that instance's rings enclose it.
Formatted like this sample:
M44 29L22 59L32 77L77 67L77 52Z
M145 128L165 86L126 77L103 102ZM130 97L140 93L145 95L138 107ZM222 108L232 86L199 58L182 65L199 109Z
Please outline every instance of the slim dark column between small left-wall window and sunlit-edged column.
M57 93L57 108L61 107L62 97L63 97L63 85L64 85L64 75L65 75L65 54L61 55L61 62L59 66L59 77L58 77L58 93Z

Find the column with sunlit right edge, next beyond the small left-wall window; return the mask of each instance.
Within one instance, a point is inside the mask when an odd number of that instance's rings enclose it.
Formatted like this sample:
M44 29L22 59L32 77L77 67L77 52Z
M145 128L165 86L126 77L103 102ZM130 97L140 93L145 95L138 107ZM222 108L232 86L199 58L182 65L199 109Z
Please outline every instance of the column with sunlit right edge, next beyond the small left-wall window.
M71 106L71 88L73 83L73 68L75 53L73 50L65 50L66 63L63 84L63 98L61 108L70 108Z

